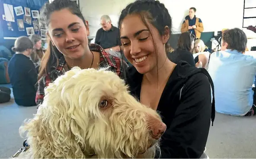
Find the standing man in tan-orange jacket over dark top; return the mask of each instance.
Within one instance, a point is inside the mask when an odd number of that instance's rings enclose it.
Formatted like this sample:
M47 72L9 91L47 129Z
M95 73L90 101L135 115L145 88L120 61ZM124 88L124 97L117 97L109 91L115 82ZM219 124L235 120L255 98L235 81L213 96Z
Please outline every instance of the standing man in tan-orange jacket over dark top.
M202 20L195 17L195 12L196 9L194 7L189 9L189 16L185 17L181 27L181 32L192 32L197 39L200 39L201 33L204 31L204 26Z

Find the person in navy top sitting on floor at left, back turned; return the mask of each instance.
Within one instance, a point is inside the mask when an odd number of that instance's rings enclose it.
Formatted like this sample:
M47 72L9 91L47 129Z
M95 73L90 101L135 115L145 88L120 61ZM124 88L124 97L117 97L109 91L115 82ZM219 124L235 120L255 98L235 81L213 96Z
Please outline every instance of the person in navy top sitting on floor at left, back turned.
M30 60L33 43L29 37L18 37L12 48L16 54L10 59L8 73L13 86L13 96L19 106L35 106L37 72Z

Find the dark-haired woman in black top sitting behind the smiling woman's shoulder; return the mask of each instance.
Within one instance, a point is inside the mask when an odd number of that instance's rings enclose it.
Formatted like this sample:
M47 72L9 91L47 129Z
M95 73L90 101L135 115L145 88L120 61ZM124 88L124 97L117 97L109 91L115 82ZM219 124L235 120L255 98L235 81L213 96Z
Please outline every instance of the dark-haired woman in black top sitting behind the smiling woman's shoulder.
M186 61L189 63L189 65L195 66L195 60L192 55L194 40L195 36L189 32L180 34L177 49L167 54L168 59L174 63Z

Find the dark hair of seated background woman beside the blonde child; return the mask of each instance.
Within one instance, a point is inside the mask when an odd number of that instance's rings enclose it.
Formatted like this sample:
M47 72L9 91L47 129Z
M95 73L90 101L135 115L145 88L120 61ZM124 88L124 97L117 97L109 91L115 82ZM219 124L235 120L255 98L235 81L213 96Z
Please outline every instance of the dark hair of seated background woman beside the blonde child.
M180 34L177 49L192 52L192 42L194 40L195 36L189 32Z

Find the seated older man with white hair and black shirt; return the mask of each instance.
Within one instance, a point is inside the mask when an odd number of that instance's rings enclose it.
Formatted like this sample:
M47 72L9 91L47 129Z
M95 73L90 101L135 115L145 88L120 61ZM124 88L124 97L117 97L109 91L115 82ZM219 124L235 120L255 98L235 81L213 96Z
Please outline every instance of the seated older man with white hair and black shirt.
M112 25L111 19L107 15L100 18L100 28L95 37L95 44L99 44L106 52L121 58L119 47L119 29Z

